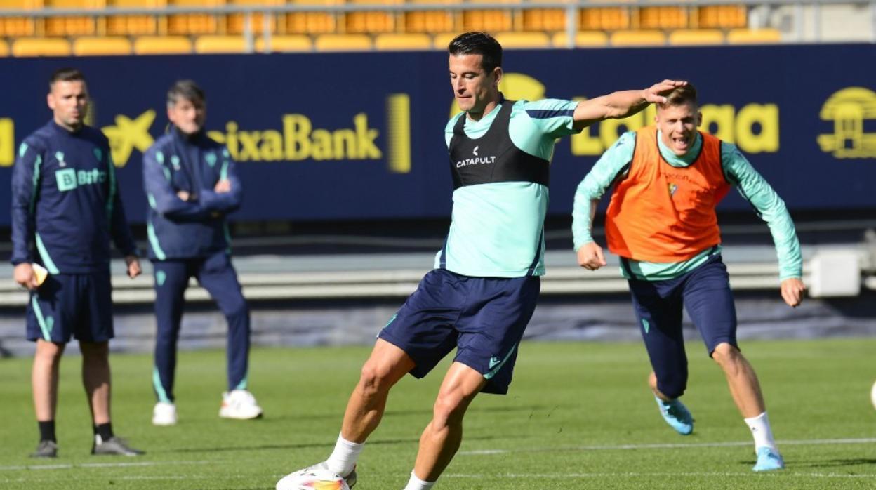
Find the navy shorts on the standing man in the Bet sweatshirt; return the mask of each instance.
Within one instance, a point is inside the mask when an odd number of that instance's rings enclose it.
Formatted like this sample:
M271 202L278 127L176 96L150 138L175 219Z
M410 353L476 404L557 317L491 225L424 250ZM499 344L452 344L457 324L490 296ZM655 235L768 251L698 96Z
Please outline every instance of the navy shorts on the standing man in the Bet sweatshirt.
M109 272L50 274L27 303L27 339L67 344L113 337Z

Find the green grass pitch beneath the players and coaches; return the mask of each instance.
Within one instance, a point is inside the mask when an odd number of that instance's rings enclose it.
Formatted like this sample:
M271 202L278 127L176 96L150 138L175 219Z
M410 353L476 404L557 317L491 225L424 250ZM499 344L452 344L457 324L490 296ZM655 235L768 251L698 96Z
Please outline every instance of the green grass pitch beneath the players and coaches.
M525 343L511 393L482 395L463 447L437 488L856 489L876 488L876 339L743 344L767 395L788 468L755 474L752 440L724 377L689 344L684 401L694 434L678 436L647 391L640 344ZM223 352L180 352L180 423L152 427L151 359L114 355L113 425L142 458L93 457L81 362L61 366L60 458L27 458L37 443L31 359L0 359L0 488L211 489L274 487L326 458L367 348L256 349L251 390L258 421L218 418ZM356 490L396 490L413 466L420 430L446 364L394 388L359 461Z

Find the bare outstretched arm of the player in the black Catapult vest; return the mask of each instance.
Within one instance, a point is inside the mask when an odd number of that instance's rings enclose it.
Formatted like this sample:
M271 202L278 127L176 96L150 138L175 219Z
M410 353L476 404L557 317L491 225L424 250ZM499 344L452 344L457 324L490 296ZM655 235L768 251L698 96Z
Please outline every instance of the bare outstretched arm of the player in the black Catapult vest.
M590 100L578 103L575 109L575 129L582 130L590 124L604 119L622 118L632 116L639 110L645 109L649 103L664 103L664 95L677 87L687 85L688 82L664 80L654 83L644 90L620 90L607 96L598 96Z

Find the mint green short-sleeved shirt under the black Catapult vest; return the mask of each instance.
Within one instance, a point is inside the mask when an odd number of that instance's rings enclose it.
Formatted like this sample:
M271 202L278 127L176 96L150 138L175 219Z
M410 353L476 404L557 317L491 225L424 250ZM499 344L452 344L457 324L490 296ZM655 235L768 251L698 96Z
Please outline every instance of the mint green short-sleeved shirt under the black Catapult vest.
M551 160L556 138L576 133L573 115L578 103L558 99L513 104L508 132L519 150ZM466 118L464 131L477 139L486 133L498 107L480 121ZM464 112L444 128L447 146ZM457 188L445 245L447 270L473 277L543 275L545 213L548 188L533 182L494 182ZM441 266L442 252L435 256Z

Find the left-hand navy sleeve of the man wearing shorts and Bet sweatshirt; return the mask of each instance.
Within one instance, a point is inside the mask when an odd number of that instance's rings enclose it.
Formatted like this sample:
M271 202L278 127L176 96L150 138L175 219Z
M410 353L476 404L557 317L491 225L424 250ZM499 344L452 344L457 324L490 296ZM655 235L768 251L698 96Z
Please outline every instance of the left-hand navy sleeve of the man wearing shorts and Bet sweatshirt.
M39 167L42 153L26 141L18 148L12 167L12 264L33 261L33 210L39 196Z

